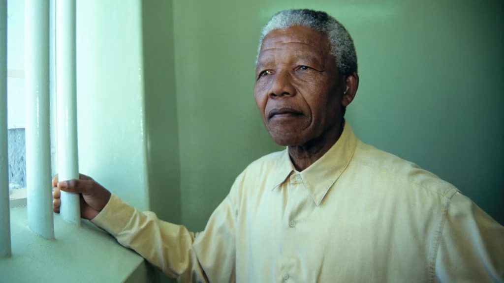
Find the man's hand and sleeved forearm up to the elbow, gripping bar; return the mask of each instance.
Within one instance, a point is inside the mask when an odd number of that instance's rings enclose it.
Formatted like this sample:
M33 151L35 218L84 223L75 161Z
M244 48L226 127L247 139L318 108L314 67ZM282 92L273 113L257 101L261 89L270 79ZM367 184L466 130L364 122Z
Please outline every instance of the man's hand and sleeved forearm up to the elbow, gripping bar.
M62 182L56 175L52 186L54 212L59 212L61 190L79 193L81 217L109 232L121 245L179 281L207 281L192 249L195 234L185 227L160 221L154 213L138 211L86 175Z

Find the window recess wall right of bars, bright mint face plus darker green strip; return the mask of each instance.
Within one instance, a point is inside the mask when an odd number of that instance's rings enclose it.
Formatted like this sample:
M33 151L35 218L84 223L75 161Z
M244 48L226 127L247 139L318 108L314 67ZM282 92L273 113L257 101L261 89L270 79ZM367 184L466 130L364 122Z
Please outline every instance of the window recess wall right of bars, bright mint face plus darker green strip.
M79 165L141 210L180 222L169 1L80 1Z

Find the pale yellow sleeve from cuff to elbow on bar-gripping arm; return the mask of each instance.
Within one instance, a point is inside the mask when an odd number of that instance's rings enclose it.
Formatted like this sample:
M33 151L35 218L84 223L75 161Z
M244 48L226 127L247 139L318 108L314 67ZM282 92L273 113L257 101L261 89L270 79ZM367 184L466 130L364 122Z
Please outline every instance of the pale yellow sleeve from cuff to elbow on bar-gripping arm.
M193 248L197 234L184 226L159 220L152 212L140 212L112 194L107 205L91 221L180 282L207 282Z

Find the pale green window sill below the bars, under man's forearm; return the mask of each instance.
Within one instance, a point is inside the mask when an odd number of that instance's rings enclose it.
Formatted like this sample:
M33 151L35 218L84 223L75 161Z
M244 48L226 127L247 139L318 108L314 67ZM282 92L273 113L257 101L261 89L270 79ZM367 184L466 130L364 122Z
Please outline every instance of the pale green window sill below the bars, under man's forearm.
M70 225L54 215L54 240L28 228L26 206L11 208L12 256L0 259L6 282L145 282L144 259L83 221Z

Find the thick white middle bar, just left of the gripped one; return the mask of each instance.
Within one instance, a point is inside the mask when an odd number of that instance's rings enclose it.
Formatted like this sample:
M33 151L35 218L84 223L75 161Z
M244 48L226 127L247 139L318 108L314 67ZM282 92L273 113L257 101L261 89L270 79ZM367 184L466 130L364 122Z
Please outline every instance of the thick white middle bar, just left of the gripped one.
M25 101L28 227L53 239L47 0L25 0Z

